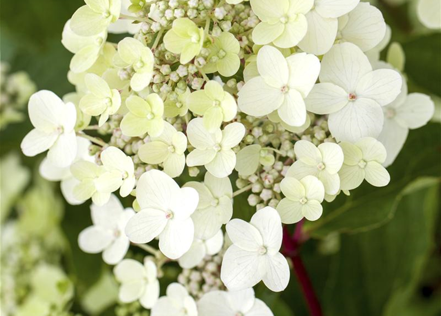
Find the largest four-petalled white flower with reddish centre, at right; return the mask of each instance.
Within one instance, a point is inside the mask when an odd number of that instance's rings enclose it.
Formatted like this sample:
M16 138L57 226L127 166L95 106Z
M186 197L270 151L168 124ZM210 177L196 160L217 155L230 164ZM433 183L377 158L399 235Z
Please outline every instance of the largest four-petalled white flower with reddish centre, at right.
M349 142L380 134L381 107L395 100L402 84L394 70L372 70L367 57L352 43L336 44L323 56L319 78L305 100L307 109L329 114L332 136Z

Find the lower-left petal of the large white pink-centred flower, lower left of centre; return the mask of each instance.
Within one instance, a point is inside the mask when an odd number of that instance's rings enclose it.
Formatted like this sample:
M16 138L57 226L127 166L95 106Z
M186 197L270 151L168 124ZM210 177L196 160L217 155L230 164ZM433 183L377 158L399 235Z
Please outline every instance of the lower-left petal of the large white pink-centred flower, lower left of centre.
M159 236L166 225L167 219L163 211L146 208L130 218L125 227L125 234L132 242L146 243Z

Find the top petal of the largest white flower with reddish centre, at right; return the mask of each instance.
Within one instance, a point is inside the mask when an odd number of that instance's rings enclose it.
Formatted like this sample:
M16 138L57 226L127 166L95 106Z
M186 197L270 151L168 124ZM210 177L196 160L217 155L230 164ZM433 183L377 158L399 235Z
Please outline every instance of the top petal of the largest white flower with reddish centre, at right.
M352 43L332 46L321 60L320 82L331 82L354 92L358 81L372 67L361 49Z

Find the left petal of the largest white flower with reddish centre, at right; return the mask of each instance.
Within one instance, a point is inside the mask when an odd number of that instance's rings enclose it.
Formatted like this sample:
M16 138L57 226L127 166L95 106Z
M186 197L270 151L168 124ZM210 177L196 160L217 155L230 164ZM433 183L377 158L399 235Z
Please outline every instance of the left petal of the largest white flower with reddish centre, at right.
M317 83L308 94L305 103L309 112L330 114L348 104L348 93L333 83Z

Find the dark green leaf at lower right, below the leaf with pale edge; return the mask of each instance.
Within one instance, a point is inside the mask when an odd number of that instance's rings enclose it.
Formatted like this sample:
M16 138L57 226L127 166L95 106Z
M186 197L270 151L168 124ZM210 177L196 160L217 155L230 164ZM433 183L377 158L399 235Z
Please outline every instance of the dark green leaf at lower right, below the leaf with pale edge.
M326 282L324 315L403 315L402 303L418 299L434 248L438 190L436 185L404 196L394 220L379 229L342 236Z

